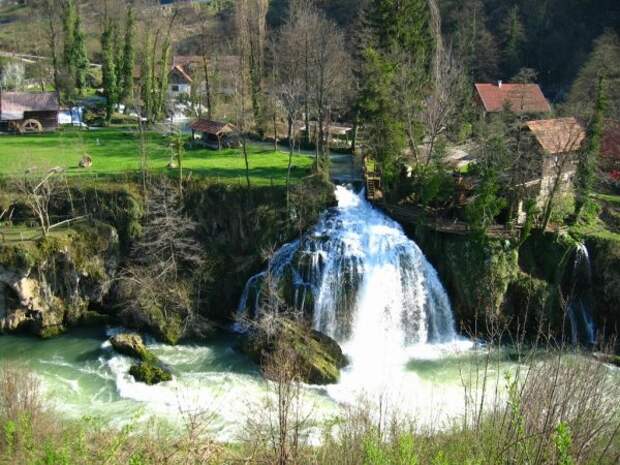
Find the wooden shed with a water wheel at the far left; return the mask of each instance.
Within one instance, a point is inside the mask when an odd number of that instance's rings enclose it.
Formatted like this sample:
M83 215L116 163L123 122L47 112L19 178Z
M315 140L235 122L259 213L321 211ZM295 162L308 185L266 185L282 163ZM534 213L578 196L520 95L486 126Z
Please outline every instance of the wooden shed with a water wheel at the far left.
M33 133L58 128L60 105L54 92L1 92L0 131Z

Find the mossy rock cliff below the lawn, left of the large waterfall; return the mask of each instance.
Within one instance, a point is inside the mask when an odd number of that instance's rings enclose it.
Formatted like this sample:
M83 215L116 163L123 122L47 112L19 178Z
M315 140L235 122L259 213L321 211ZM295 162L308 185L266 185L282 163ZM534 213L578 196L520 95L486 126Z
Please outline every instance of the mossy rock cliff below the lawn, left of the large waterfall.
M74 204L97 220L90 226L0 244L0 332L53 336L103 317L171 343L202 337L207 320L230 321L245 282L263 266L265 252L314 224L334 202L333 186L320 178L294 186L289 209L286 192L278 186L248 190L195 180L184 192L183 210L199 224L197 239L208 264L191 270L183 283L196 304L191 325L162 318L158 305L146 306L141 314L123 311L123 281L115 277L132 265L129 252L142 233L144 200L136 186L110 183L97 189L72 186ZM66 216L71 208L61 199L51 213ZM27 212L23 206L18 210ZM16 221L27 218L17 215Z

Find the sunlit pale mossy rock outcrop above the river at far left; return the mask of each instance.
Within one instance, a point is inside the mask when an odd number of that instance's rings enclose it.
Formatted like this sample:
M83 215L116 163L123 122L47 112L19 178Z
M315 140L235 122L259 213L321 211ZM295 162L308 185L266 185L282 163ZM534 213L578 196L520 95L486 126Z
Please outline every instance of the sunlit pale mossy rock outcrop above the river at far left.
M86 322L118 265L118 235L103 223L0 245L0 332L49 337Z

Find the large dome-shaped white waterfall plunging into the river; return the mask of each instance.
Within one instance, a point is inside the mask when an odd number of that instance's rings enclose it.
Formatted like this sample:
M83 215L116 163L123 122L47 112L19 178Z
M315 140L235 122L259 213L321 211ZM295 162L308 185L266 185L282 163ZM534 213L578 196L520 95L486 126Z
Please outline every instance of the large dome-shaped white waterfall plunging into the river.
M343 344L353 362L392 360L415 344L453 341L448 296L420 248L363 195L338 186L336 198L336 208L247 282L240 314L260 311L269 273L289 306Z

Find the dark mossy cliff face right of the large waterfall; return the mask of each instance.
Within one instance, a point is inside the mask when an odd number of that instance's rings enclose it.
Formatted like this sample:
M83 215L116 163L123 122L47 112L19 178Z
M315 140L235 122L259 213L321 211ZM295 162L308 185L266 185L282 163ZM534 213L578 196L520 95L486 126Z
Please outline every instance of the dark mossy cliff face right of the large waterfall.
M535 232L515 247L504 240L480 242L422 225L406 228L437 269L465 331L508 328L529 336L541 329L569 334L562 303L573 285L577 239ZM610 336L620 328L620 243L579 240L591 255L592 316L599 330Z

